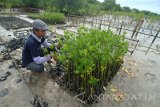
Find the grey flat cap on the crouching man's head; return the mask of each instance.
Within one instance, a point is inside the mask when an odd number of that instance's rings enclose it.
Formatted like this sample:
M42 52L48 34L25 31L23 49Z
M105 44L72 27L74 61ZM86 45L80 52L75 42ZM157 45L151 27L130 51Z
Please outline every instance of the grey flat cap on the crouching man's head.
M48 30L48 25L40 19L34 20L32 24L35 29Z

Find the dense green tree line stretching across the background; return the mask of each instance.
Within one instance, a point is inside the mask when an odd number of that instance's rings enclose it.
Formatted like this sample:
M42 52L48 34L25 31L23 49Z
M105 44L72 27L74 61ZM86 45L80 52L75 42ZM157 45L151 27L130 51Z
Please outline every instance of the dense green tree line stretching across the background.
M160 16L157 13L146 10L140 11L135 8L131 9L130 7L121 7L119 4L116 4L116 0L104 0L102 3L97 0L0 0L0 7L32 7L44 9L50 12L56 11L64 14L76 15L118 11Z

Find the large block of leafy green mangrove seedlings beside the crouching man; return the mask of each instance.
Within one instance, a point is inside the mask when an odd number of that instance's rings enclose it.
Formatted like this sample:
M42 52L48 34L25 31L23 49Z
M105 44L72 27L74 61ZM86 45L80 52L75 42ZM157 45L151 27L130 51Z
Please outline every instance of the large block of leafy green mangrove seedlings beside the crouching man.
M65 72L58 83L83 102L92 104L118 72L128 43L124 35L111 30L80 27L77 31L66 31L63 41L59 39L60 50L52 54Z

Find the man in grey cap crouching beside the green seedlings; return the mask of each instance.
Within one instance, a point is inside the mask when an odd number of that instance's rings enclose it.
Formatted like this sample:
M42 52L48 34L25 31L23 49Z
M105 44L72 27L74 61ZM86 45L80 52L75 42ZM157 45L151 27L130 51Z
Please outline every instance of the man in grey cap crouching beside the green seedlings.
M42 20L36 19L33 21L33 32L25 42L22 52L22 66L27 70L37 73L44 71L43 63L51 60L55 62L50 55L43 56L41 45L48 47L50 43L44 39L48 26Z

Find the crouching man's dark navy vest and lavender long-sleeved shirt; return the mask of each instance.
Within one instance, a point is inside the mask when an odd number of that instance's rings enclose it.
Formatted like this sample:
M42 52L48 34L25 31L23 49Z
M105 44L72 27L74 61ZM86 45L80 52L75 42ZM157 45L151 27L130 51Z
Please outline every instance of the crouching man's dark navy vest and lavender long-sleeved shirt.
M50 43L48 43L47 40L45 40L44 38L38 38L34 33L31 33L24 45L22 53L23 67L25 67L31 62L42 64L51 59L50 56L43 56L41 45L43 45L44 47L48 47Z

